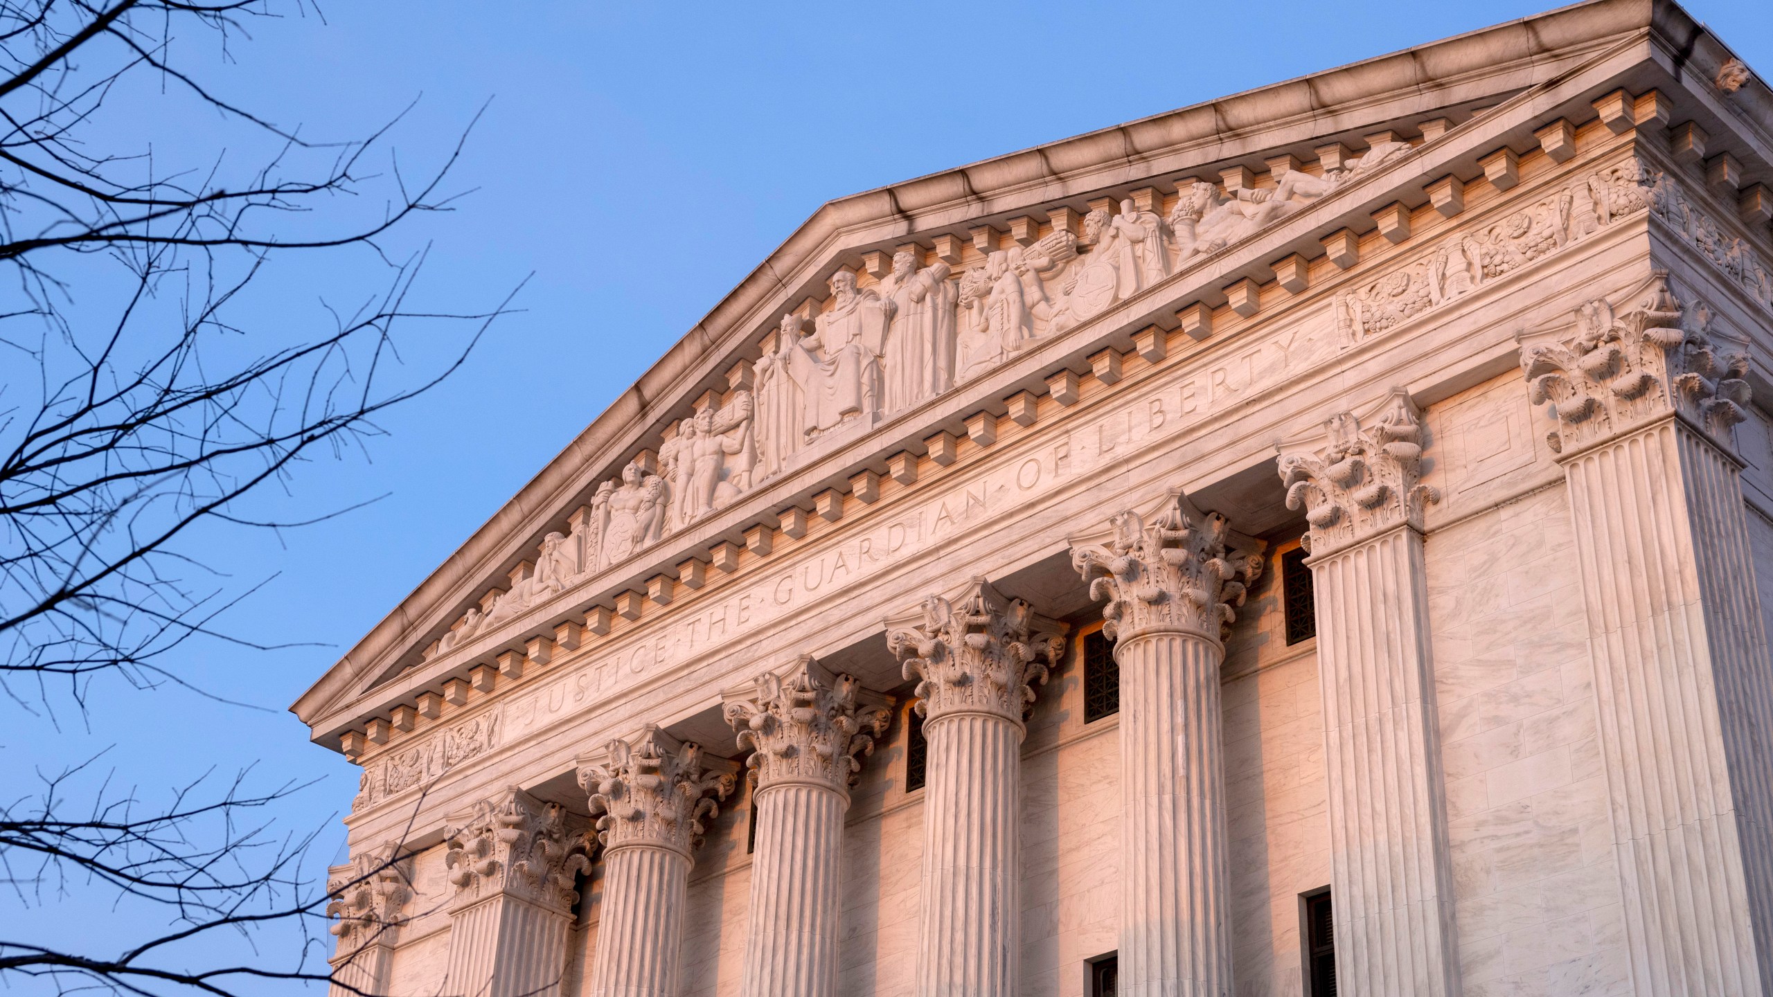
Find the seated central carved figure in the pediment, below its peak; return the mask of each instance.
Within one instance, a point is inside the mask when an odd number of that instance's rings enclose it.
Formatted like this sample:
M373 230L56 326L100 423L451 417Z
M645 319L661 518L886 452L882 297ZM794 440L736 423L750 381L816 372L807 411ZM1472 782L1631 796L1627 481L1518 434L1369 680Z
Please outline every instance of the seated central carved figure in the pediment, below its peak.
M874 289L858 291L856 275L839 270L830 279L832 307L814 323L812 335L789 351L789 376L800 385L805 438L855 419L872 419L881 404L881 349L892 302Z

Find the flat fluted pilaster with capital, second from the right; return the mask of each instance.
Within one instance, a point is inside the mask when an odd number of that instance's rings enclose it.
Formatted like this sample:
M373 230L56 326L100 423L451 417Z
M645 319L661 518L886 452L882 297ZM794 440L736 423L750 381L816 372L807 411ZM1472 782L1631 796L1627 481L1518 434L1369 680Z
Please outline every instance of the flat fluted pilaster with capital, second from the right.
M1337 985L1447 997L1459 947L1422 557L1422 509L1440 497L1418 483L1410 396L1369 415L1339 413L1280 456L1287 507L1312 527Z

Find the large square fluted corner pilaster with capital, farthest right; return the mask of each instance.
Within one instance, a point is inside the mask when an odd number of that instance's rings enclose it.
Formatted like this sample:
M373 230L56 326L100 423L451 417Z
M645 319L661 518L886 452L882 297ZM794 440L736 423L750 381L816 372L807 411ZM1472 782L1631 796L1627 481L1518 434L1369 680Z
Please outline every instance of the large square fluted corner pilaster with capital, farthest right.
M1748 360L1667 275L1527 346L1569 483L1638 993L1773 983L1773 688L1734 452ZM1750 912L1762 912L1752 917Z

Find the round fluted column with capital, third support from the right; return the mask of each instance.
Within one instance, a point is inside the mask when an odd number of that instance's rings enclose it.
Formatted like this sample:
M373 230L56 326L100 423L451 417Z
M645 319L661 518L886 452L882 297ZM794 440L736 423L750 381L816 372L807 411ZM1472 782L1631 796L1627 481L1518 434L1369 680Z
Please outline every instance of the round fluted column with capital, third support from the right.
M1110 520L1071 562L1106 598L1121 665L1121 979L1136 997L1230 993L1223 626L1261 569L1257 541L1175 497ZM1243 543L1239 543L1243 541ZM1239 550L1234 550L1239 548Z

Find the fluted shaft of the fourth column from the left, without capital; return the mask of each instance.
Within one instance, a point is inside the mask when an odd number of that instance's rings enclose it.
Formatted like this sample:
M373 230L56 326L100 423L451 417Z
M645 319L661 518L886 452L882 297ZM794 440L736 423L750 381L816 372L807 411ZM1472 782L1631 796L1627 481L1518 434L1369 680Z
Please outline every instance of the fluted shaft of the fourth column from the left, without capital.
M754 805L743 993L832 997L849 798L828 786L787 782L757 789Z

